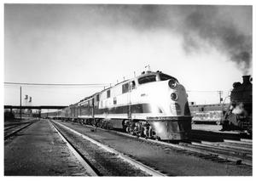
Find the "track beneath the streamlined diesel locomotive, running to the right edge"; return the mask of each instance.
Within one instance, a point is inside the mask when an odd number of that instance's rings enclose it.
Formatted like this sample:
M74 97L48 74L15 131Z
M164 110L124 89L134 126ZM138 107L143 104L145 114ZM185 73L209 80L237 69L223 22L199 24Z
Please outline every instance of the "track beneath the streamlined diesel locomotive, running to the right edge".
M95 128L90 125L84 125L85 127ZM252 166L252 140L241 139L230 140L224 139L223 142L209 142L202 140L189 140L186 142L179 142L177 144L167 143L154 139L144 139L142 137L137 137L129 133L118 132L115 130L106 130L97 127L103 131L108 131L111 133L116 133L123 135L125 137L130 137L133 139L140 139L151 144L160 144L164 149L174 149L185 154L199 156L205 159L211 159L212 161L225 162L232 161L237 165L244 164L247 166Z

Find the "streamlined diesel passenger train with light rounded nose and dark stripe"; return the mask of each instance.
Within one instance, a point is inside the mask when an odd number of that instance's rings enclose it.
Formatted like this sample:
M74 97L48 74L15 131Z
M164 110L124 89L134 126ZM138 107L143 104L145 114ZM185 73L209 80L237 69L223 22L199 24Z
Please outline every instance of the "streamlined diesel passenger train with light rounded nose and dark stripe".
M173 76L146 71L74 105L42 116L120 128L161 140L188 139L191 115L185 88Z

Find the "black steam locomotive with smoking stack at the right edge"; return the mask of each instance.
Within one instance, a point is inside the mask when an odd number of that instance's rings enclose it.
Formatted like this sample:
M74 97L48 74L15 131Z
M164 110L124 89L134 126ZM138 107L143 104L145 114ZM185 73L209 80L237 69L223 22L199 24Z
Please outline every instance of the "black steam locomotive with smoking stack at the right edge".
M230 94L230 105L222 120L223 130L245 130L252 133L253 84L250 76L235 82Z

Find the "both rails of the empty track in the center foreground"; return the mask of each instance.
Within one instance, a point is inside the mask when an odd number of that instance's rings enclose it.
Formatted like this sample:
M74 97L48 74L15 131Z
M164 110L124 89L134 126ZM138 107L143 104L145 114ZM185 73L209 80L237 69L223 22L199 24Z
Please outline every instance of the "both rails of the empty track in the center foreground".
M154 168L152 167L148 167L146 165L144 165L142 162L140 161L136 161L134 159L132 159L131 157L129 156L125 156L123 153L117 151L117 150L113 150L112 148L110 148L108 145L105 145L105 144L102 144L98 141L96 141L95 139L91 139L90 137L84 135L83 133L79 133L77 131L75 131L74 129L70 128L70 127L67 127L59 122L55 122L55 121L52 121L53 124L58 126L58 127L62 127L66 130L68 130L69 132L73 133L73 134L76 134L78 135L80 138L82 139L86 139L88 141L90 141L92 144L96 144L98 147L100 147L102 150L105 150L107 151L108 153L111 153L113 154L114 156L117 156L119 159L131 164L133 167L137 167L137 169L140 169L142 170L144 173L147 173L148 175L151 175L151 176L157 176L157 177L160 177L160 176L167 176L166 174L164 173L160 173L159 171L155 170ZM56 128L57 129L57 128ZM60 132L59 132L60 133ZM63 135L62 135L63 136ZM64 136L63 136L64 137ZM68 139L67 139L67 142L68 142ZM69 144L71 144L70 142L68 142ZM90 165L90 167L93 167L92 164L90 164L90 162L88 162L88 159L86 159L83 154L81 154L79 152L78 149L76 149L76 147L71 144L71 146L73 147L73 150L76 150L78 152L78 155L79 156L82 156L84 158L84 160L87 162L87 164ZM94 167L93 170L96 170L96 168ZM100 173L99 171L97 171L97 173Z

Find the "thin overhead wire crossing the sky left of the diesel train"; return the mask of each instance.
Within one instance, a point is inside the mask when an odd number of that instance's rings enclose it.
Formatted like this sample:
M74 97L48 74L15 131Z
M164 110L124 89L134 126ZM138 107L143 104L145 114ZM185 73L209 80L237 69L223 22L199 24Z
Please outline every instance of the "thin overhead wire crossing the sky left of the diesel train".
M27 82L4 82L6 85L27 86L106 86L109 83L27 83Z

